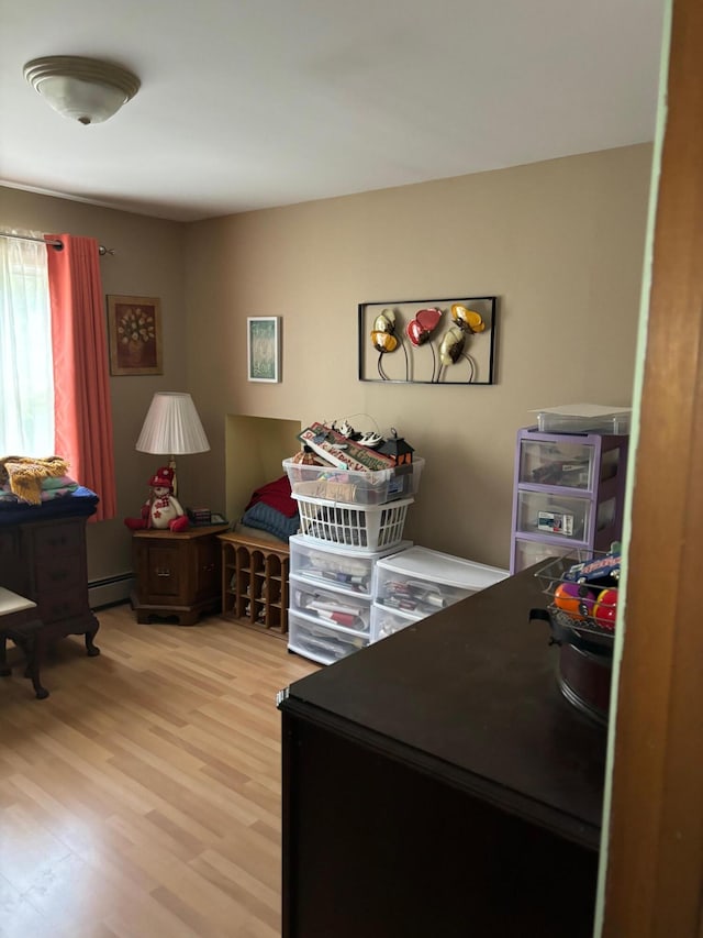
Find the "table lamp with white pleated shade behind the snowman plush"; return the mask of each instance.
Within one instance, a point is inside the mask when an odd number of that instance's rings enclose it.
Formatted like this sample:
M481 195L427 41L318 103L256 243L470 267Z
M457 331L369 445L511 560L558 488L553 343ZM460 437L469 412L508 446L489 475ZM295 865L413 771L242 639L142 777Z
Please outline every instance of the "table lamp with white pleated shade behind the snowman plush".
M136 449L141 453L169 456L174 472L174 495L178 495L176 456L207 453L210 443L192 397L172 390L157 391L146 413Z

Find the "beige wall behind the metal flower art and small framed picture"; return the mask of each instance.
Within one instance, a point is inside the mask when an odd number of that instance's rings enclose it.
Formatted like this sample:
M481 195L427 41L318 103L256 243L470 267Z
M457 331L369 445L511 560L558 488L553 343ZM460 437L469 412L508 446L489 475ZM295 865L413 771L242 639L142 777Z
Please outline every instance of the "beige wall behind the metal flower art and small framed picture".
M191 225L189 389L213 446L199 500L225 504L226 415L370 429L367 413L426 460L408 536L507 566L531 409L631 404L650 161L645 144ZM357 379L359 302L493 294L495 385ZM252 384L246 317L271 314L282 382Z

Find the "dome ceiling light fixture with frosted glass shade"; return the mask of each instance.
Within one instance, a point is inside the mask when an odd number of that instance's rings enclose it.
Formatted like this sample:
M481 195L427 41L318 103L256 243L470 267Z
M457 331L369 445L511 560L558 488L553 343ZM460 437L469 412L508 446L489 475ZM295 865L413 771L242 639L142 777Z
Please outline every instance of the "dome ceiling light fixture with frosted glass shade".
M140 90L140 79L108 62L80 55L33 58L24 77L46 102L69 120L98 124L115 114Z

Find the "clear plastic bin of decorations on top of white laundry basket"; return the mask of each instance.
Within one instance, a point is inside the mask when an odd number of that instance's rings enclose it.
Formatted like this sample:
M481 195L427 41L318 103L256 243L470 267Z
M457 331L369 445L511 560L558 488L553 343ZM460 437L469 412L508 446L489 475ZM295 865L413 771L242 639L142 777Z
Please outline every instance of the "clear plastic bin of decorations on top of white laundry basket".
M412 498L420 487L424 465L423 459L415 457L410 464L379 472L350 472L283 460L293 495L353 505L384 505Z

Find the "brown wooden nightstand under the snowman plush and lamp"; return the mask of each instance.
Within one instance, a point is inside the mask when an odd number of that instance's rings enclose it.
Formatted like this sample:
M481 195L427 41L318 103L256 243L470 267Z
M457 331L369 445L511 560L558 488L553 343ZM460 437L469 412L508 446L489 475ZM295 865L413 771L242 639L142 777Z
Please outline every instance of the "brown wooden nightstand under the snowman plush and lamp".
M135 531L132 559L136 589L132 608L137 622L153 616L174 616L181 626L194 626L203 611L217 611L222 600L217 534L227 525L171 531Z

